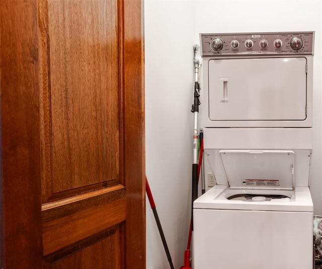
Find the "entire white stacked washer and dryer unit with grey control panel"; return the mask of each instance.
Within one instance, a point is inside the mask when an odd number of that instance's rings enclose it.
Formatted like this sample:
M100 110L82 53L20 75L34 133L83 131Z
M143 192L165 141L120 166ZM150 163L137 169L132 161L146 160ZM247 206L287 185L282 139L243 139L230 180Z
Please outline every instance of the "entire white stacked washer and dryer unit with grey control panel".
M205 160L194 269L313 268L314 32L201 34Z

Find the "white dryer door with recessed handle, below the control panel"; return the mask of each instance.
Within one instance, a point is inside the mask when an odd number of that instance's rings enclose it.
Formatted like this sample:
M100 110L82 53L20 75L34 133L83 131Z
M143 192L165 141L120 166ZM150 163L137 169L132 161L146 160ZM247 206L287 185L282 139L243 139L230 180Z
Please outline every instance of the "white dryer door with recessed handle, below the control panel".
M209 60L209 119L305 120L306 58Z

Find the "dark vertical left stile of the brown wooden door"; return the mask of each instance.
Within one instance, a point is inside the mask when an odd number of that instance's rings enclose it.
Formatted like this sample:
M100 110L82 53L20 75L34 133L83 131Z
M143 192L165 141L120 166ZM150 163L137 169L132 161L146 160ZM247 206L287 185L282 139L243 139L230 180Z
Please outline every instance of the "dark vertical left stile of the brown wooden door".
M5 266L40 268L37 3L0 1L0 14Z

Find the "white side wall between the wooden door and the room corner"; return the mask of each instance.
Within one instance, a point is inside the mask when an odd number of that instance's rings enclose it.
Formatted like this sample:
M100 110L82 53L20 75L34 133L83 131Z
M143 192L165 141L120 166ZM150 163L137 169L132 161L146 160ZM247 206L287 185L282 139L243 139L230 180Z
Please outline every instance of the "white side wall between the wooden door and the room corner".
M183 265L191 203L193 1L145 1L146 176L175 268ZM170 268L146 204L146 268Z

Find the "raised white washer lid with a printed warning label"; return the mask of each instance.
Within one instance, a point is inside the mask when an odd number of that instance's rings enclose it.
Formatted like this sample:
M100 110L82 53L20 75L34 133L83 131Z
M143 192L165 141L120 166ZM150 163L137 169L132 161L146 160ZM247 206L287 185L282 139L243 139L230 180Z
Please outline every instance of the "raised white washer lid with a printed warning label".
M221 150L219 154L229 188L294 188L293 151Z

